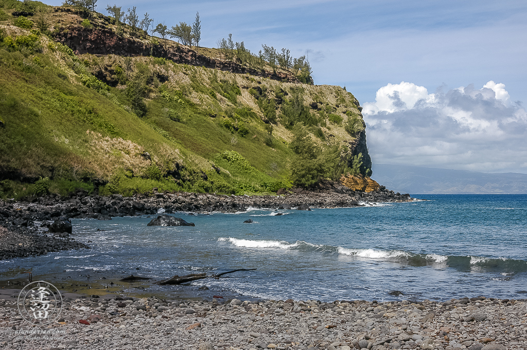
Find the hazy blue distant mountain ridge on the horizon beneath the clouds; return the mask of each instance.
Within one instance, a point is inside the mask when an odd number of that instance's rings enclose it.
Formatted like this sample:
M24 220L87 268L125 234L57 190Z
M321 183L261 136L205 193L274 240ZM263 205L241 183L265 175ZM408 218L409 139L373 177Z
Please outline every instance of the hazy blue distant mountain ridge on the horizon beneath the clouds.
M373 179L410 194L525 194L527 174L373 164Z

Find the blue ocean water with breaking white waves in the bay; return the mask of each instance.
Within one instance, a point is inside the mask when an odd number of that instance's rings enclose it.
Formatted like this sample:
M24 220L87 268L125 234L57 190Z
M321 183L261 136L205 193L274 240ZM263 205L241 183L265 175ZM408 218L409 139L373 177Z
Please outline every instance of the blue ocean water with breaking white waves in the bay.
M527 298L527 195L413 197L426 201L171 214L196 227L147 226L153 216L73 219L75 239L91 241L92 249L3 261L0 279L32 271L59 285L106 284L129 274L160 279L257 268L190 286L147 283L138 290L207 296L198 291L207 286L210 294L321 301ZM255 222L243 223L250 218ZM404 294L388 294L395 290Z

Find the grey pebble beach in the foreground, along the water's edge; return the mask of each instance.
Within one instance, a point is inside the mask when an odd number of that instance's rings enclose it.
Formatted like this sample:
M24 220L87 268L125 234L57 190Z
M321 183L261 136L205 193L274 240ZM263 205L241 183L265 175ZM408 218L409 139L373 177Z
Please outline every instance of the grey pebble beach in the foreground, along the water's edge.
M376 302L65 298L33 326L0 300L6 349L527 349L523 299Z

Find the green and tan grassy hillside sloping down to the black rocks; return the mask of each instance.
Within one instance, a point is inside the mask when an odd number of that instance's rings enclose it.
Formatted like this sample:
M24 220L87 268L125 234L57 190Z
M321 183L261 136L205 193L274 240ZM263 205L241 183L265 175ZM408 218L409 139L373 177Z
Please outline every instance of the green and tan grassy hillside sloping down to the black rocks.
M27 4L33 16L13 16ZM163 57L75 55L52 30L79 27L81 17L67 13L58 25L63 16L52 22L54 8L42 3L0 5L3 197L77 187L273 193L313 185L302 180L309 176L336 179L353 165L368 172L354 153L364 138L358 102L338 86Z

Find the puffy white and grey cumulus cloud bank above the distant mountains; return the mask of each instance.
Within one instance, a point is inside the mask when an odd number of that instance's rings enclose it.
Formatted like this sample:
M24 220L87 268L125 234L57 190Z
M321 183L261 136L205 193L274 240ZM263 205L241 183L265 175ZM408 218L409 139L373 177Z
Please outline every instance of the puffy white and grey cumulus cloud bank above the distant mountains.
M527 173L527 113L505 84L445 89L378 89L363 109L374 163Z

